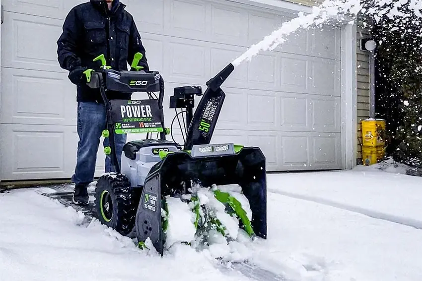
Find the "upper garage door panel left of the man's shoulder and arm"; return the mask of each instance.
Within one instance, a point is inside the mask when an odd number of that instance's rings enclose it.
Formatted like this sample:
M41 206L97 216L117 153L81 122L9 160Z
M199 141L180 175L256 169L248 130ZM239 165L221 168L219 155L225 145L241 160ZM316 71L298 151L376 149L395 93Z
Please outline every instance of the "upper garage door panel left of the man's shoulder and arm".
M64 72L57 61L57 39L62 21L45 17L4 12L1 33L1 66ZM42 34L42 40L40 40Z

